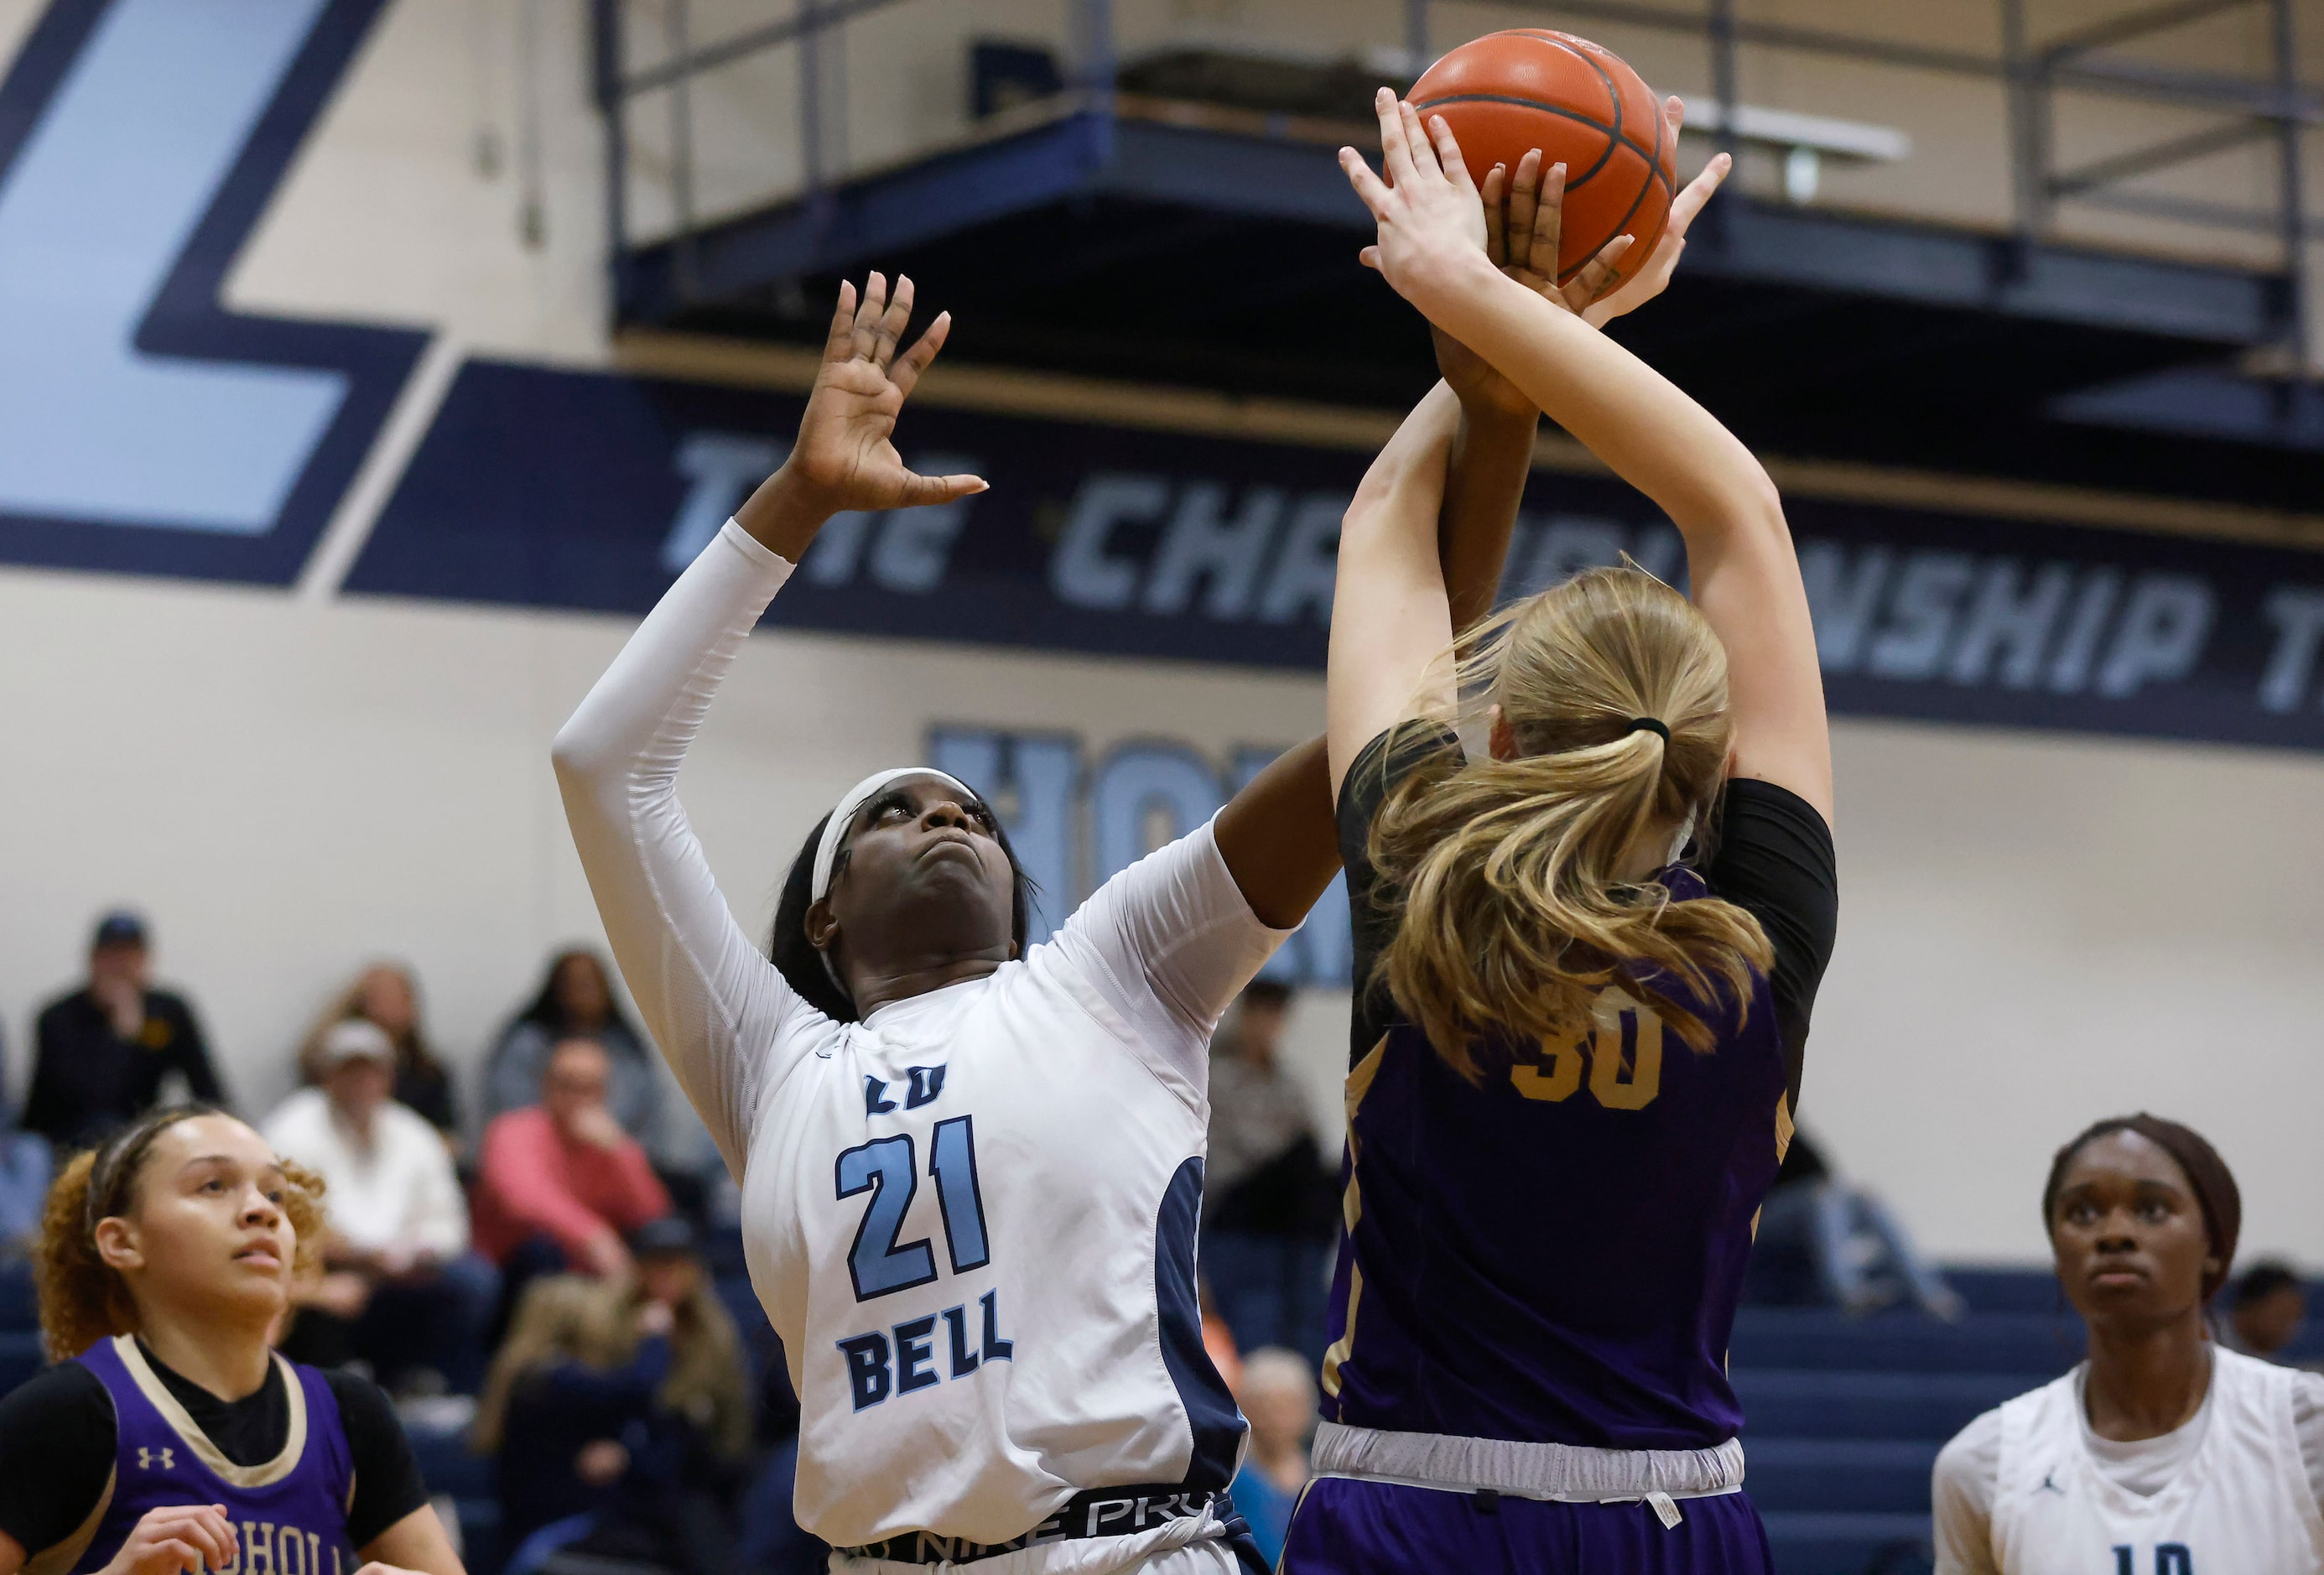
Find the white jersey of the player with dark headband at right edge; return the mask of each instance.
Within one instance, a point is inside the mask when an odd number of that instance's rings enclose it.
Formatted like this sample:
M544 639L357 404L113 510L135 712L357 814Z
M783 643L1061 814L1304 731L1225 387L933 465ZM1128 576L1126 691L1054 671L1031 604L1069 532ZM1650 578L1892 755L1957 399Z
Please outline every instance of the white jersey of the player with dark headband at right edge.
M2089 1431L2085 1373L1978 1417L1938 1457L1941 1575L2324 1573L2298 1424L2315 1375L2212 1347L2187 1426L2110 1445Z

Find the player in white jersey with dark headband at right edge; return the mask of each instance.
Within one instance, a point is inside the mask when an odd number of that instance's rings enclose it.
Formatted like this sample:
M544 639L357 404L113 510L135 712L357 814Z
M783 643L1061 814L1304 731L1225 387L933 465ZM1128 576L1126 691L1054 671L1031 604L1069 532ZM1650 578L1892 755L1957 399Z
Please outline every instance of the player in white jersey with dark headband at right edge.
M2324 1378L2203 1322L2243 1224L2217 1150L2099 1122L2050 1166L2043 1222L2089 1359L1936 1457L1938 1575L2324 1573Z

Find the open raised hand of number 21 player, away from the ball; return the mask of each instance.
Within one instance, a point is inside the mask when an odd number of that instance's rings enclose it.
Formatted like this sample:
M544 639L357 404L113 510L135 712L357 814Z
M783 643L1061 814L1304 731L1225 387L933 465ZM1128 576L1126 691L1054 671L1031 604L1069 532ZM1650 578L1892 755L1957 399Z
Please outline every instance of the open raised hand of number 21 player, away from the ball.
M895 420L953 328L944 311L897 355L911 323L911 279L871 274L862 300L839 286L816 388L799 416L799 441L734 518L762 544L799 562L823 520L848 509L916 509L983 492L978 476L920 476L895 451Z

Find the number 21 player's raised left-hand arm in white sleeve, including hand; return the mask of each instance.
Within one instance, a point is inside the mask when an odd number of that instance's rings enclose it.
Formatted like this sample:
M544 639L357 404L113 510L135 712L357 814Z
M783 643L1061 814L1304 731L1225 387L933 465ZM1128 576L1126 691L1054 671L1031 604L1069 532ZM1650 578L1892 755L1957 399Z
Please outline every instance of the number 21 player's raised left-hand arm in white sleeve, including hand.
M895 358L911 281L895 300L871 274L858 309L839 288L799 441L737 511L558 734L565 818L621 973L739 1175L769 1073L802 1052L792 1027L820 1022L727 911L679 804L676 778L718 683L816 530L841 509L897 509L981 490L974 476L913 476L890 434L948 318Z

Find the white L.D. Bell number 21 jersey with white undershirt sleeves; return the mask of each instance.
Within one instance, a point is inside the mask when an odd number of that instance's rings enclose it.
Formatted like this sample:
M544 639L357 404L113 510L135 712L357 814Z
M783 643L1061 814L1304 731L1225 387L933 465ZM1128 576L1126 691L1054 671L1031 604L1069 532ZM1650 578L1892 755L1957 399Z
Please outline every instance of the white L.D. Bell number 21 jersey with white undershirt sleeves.
M1225 1489L1243 1419L1195 1301L1206 1048L1283 934L1202 827L988 978L858 1024L809 1006L734 925L674 790L788 574L730 523L555 760L621 971L741 1178L802 1405L799 1524L839 1547L1006 1542L1083 1489ZM1188 1517L1009 1568L1118 1568L1215 1531Z

